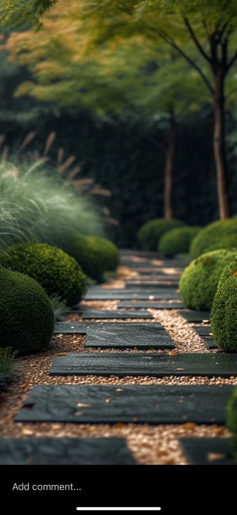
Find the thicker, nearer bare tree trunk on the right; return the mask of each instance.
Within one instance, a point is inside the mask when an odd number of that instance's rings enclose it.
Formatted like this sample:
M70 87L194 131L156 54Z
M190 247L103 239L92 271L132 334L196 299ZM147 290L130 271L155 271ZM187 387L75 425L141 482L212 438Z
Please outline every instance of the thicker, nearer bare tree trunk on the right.
M221 72L217 73L215 76L213 145L220 219L225 220L231 216L231 209L228 192L228 170L225 148L224 76Z

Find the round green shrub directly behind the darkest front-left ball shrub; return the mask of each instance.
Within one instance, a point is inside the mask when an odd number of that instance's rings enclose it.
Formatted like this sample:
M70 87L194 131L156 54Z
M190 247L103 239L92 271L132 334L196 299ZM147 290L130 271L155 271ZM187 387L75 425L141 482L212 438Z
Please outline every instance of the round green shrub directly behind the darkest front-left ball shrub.
M57 294L68 305L80 302L86 277L78 263L57 247L46 243L18 244L0 256L2 266L27 273L48 295Z

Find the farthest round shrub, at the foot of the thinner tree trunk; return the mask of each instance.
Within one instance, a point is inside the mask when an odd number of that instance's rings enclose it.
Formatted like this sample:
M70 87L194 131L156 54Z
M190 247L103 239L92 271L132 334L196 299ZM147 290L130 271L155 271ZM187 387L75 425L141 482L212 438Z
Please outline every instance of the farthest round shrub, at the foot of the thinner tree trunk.
M165 218L156 218L144 224L137 233L137 239L140 246L144 250L157 250L159 240L165 232L182 227L186 224L180 220L165 220Z

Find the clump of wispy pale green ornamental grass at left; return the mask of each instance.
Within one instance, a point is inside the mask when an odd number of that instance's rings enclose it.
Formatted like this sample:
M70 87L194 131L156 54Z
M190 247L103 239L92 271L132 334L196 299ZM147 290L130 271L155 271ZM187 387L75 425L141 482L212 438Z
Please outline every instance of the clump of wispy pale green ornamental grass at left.
M0 165L0 244L35 239L62 247L65 238L78 232L101 234L101 217L92 200L41 161ZM12 206L9 216L6 206Z

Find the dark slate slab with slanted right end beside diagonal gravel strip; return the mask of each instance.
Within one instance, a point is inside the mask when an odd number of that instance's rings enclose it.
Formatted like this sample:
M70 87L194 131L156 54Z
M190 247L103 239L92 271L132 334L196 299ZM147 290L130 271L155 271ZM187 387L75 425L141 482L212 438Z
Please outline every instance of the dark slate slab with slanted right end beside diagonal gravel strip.
M155 322L89 325L85 347L139 350L175 348L162 324Z

